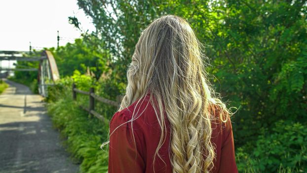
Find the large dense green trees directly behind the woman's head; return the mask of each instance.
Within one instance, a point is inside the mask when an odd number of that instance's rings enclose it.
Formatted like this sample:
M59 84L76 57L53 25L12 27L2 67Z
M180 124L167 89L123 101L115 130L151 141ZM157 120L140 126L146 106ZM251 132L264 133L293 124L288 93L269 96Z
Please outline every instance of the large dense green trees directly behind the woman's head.
M122 67L154 18L176 14L188 19L199 40L210 45L208 71L216 76L215 85L222 86L218 89L232 106L241 106L234 119L239 146L279 119L306 117L303 0L78 0L78 5L117 59L121 69L114 75L125 74Z

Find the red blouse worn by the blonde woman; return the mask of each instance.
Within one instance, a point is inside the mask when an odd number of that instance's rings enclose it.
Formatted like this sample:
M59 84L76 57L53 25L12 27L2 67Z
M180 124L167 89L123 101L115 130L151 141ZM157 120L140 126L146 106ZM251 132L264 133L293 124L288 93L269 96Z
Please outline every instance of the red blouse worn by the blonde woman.
M142 100L144 102L142 102ZM149 94L140 103L140 111L143 114L133 121L133 134L131 130L132 112L134 102L128 108L116 112L110 122L110 149L109 149L109 173L153 173L153 156L160 139L160 127L154 114L153 106L149 102ZM138 109L138 108L137 108ZM219 121L220 122L220 121ZM169 122L165 119L166 128L169 129ZM234 144L230 119L225 123L212 122L211 141L216 146L216 159L211 173L237 173L234 159ZM154 162L155 173L172 173L172 166L169 157L170 133L167 131L166 141L159 150L163 161L156 156ZM136 146L135 146L136 144ZM136 149L135 149L136 147Z

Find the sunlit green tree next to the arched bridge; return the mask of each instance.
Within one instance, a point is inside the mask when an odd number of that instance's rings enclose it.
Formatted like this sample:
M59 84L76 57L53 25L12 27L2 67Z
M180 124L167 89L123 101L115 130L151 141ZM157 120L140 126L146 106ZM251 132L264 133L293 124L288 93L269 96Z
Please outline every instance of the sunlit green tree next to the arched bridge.
M76 39L75 43L67 43L58 49L52 48L61 76L71 76L74 70L86 73L93 72L99 79L103 72L108 71L109 51L93 35L85 35Z

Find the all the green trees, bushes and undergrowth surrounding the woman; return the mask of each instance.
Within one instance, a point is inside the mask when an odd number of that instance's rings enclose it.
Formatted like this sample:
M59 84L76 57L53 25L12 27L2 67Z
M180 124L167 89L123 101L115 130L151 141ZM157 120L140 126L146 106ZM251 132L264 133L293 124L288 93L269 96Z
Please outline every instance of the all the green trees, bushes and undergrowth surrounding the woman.
M306 1L78 0L78 5L96 32L51 49L62 77L73 75L78 88L94 86L97 94L115 100L125 92L126 67L141 31L160 15L179 15L205 43L212 65L206 70L216 77L210 80L223 101L240 107L232 119L239 172L307 172ZM80 28L77 18L70 22ZM49 91L48 110L82 170L98 172L107 167L99 145L108 125L78 109L71 83L65 78L57 85L61 91ZM77 102L87 104L86 99L78 95ZM109 119L116 111L97 107ZM85 136L97 138L91 143Z

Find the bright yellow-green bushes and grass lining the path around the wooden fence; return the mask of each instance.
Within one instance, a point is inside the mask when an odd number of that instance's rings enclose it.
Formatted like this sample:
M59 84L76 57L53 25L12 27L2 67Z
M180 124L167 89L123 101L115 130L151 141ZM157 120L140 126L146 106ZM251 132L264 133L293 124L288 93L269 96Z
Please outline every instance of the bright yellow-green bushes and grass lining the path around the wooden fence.
M54 128L60 130L66 139L64 145L72 154L73 160L80 164L82 173L107 172L108 150L100 145L108 139L109 124L89 115L79 105L88 104L88 96L77 94L77 101L72 98L72 82L77 88L88 90L92 79L77 72L73 78L63 78L55 86L49 87L47 110ZM98 104L98 103L97 103ZM100 112L107 119L115 113L116 108L104 105ZM96 106L99 112L101 108Z

